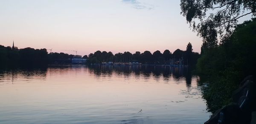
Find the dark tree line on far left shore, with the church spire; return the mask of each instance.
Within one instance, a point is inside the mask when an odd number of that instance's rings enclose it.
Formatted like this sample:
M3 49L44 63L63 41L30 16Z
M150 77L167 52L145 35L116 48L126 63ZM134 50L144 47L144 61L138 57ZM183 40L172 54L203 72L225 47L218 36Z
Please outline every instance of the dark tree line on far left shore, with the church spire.
M34 49L0 45L0 68L46 67L49 64L70 64L74 55L49 53L47 49Z

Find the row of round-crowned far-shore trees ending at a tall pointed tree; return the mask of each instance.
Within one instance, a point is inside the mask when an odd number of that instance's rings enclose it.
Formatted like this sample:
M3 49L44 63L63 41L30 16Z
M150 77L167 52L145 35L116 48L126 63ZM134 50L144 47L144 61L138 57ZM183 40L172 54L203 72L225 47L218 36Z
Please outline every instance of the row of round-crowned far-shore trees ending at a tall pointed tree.
M170 64L172 59L182 59L184 65L195 65L199 56L197 52L193 52L192 45L189 42L186 51L177 49L173 53L169 50L165 50L163 53L157 50L153 54L150 51L144 51L143 53L137 51L134 54L129 51L117 54L113 54L111 51L96 51L94 54L88 55L87 62L92 64L102 62L139 62L143 64L164 65Z

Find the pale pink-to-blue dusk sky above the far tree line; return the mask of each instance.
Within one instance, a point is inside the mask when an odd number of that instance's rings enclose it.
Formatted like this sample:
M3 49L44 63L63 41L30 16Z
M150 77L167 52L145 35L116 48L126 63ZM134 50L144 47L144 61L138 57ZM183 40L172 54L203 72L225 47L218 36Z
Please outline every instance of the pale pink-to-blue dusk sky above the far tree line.
M79 55L100 51L153 53L201 38L180 15L180 0L0 0L0 45Z

